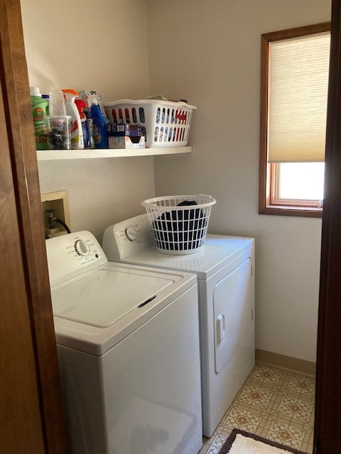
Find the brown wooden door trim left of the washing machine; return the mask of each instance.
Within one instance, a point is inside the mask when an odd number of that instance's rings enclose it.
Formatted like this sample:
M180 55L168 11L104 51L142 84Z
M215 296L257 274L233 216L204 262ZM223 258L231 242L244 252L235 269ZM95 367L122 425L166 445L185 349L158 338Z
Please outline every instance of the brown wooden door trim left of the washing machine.
M64 420L20 0L0 0L0 33L1 94L8 139L4 153L9 155L11 163L18 225L16 243L21 245L26 288L27 302L23 309L28 311L30 321L41 433L45 453L63 454L66 452ZM3 260L11 260L9 246ZM18 361L19 355L18 352ZM25 421L18 428L27 430ZM12 449L6 452L14 453L15 448ZM33 452L32 447L27 445L25 452Z

